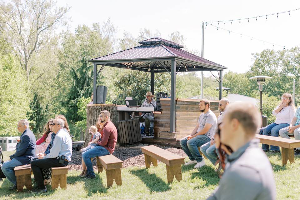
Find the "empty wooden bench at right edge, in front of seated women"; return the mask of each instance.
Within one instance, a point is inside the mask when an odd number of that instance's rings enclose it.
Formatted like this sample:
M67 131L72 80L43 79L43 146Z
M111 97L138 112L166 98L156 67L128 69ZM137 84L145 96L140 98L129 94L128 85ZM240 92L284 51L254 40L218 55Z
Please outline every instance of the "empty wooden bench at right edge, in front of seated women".
M287 160L294 162L294 148L300 147L300 140L258 134L256 138L260 139L260 143L281 147L282 165L286 165Z

